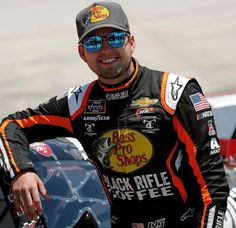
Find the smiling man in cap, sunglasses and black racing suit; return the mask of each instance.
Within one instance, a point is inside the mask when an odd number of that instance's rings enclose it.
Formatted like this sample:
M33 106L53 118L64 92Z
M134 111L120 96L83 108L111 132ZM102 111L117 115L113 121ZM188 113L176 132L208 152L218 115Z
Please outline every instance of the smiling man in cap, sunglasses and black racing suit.
M112 227L223 227L228 185L211 108L196 80L139 65L117 3L88 6L76 24L79 54L98 80L1 125L16 210L36 219L39 195L47 197L29 143L73 136L98 169Z

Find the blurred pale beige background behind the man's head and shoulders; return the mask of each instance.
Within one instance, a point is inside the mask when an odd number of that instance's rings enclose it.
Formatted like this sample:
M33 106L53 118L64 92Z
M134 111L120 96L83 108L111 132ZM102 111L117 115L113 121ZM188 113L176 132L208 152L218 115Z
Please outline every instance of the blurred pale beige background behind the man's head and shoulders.
M75 26L92 2L0 0L0 119L96 79L77 53ZM235 0L116 2L141 65L196 77L207 96L236 90Z

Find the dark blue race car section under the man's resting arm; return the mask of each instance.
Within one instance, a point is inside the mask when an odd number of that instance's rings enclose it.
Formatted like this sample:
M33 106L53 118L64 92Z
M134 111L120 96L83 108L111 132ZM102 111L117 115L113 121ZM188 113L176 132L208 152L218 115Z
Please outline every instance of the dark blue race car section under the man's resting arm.
M17 215L9 178L0 169L4 195L0 204L0 227L110 227L110 208L102 184L76 139L57 138L33 143L30 155L50 199L42 199L44 213L38 221L28 221L24 215Z

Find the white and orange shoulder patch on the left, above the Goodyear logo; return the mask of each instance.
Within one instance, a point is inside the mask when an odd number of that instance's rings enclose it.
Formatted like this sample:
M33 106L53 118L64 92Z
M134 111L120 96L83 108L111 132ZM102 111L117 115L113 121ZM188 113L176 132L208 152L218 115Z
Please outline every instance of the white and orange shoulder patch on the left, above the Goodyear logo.
M85 109L94 83L95 81L69 89L68 105L72 120Z

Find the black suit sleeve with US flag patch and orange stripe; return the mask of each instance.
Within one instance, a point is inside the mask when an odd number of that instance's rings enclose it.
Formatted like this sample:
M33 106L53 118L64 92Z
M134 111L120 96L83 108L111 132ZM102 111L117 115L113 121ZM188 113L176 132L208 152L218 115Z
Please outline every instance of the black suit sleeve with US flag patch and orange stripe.
M196 228L223 227L229 193L211 107L195 80L182 93L173 117L183 146L180 173Z

